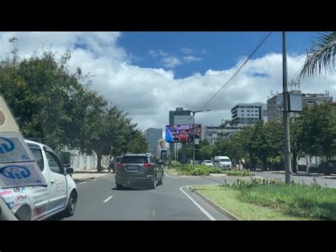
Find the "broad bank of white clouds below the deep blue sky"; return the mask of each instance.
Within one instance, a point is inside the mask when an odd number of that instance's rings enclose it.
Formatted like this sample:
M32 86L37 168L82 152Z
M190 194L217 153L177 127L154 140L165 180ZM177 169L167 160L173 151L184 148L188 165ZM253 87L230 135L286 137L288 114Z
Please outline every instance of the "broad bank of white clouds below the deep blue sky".
M164 128L168 124L169 110L177 106L199 109L242 63L240 59L228 70L208 70L204 75L195 73L184 79L175 79L172 70L131 65L128 53L118 45L120 33L0 33L0 55L10 52L8 40L13 35L18 38L21 55L39 50L45 41L53 43L52 48L58 55L67 47L72 48L70 69L75 71L81 67L83 73L96 75L92 78L91 88L121 106L142 130ZM79 43L82 43L80 47ZM300 57L288 57L289 81L303 65L304 58ZM181 64L181 60L170 57L165 63L172 68ZM237 103L267 102L271 89L274 92L282 90L281 54L269 53L247 62L237 79L209 104L211 111L196 115L196 123L218 125L221 119L230 119L230 109ZM301 89L306 93L323 93L328 89L335 97L336 75L303 80Z

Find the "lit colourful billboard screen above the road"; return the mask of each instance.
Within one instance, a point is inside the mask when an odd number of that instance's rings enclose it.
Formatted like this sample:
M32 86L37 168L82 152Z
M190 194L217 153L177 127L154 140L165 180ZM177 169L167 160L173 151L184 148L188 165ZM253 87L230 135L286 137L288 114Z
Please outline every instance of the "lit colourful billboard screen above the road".
M195 138L201 138L201 124L195 124ZM193 141L192 124L166 125L166 142L184 143Z

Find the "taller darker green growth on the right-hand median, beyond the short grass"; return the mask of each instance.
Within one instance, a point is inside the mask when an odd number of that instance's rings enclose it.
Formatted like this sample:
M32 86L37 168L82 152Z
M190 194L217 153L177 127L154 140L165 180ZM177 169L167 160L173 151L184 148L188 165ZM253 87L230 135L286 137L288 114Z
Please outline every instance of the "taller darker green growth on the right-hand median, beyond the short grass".
M240 191L242 202L280 209L281 212L310 219L336 219L336 189L316 183L305 185L283 180L251 178L237 179L221 185Z

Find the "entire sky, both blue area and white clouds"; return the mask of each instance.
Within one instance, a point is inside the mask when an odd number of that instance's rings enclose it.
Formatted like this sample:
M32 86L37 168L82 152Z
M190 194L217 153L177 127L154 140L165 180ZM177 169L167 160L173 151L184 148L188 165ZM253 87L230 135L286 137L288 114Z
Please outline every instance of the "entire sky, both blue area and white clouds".
M90 73L91 89L128 112L142 130L168 124L169 110L199 109L223 87L267 32L13 32L0 33L0 57L18 38L21 58L41 48L72 50L70 72ZM303 66L315 32L288 32L289 82ZM281 33L273 32L227 89L199 113L196 123L219 125L238 103L267 102L282 90ZM195 73L198 73L195 74ZM336 74L302 80L304 93L330 91Z

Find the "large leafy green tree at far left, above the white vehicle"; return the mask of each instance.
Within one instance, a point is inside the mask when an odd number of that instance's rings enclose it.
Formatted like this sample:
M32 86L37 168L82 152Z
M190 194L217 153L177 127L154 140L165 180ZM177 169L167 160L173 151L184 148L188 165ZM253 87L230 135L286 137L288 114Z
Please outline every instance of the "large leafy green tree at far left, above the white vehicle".
M0 93L16 117L23 136L35 138L52 148L74 141L67 125L72 114L72 98L84 87L65 67L69 52L55 59L50 51L19 60L13 57L0 62Z

